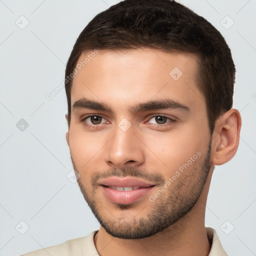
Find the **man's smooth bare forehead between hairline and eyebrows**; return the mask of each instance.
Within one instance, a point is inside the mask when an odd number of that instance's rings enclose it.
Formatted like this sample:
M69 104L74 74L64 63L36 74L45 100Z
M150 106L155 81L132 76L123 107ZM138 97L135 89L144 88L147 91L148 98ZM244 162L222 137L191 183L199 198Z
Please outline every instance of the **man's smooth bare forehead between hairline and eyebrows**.
M82 97L125 107L125 103L171 98L201 104L198 58L151 48L98 50L80 55L71 87L71 104Z

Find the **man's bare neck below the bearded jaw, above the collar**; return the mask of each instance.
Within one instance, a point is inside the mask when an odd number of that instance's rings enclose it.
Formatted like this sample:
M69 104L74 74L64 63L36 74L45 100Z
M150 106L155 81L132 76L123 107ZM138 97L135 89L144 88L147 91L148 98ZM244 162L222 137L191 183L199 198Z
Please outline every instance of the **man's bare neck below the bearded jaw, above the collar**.
M176 223L155 235L142 239L120 239L111 236L100 226L94 236L99 255L207 256L211 244L207 237L204 217L210 178L211 171L193 208Z

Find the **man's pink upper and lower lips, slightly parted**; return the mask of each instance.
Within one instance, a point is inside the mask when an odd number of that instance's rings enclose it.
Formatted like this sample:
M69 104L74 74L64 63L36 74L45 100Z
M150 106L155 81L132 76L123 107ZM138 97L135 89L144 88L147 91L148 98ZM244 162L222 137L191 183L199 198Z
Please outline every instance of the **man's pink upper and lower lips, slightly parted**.
M104 196L109 201L119 204L130 204L142 199L155 185L145 180L132 177L109 177L99 181L98 184L101 186ZM109 186L138 186L139 188L130 191L118 191Z

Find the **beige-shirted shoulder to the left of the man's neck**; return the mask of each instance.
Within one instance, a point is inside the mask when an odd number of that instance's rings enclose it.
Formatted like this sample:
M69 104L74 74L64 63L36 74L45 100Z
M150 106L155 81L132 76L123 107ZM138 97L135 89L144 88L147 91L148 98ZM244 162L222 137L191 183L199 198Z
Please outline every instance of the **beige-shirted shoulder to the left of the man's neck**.
M70 255L98 255L93 242L93 236L97 231L93 231L84 237L67 240L58 245L41 248L31 251L21 256L70 256Z

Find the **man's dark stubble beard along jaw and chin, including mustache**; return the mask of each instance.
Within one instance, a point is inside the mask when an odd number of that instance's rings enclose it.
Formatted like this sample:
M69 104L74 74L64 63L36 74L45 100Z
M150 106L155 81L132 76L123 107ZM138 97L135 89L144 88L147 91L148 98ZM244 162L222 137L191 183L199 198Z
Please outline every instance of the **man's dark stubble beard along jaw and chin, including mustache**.
M101 202L97 200L95 197L95 189L93 189L93 184L95 184L95 180L99 175L95 175L92 179L92 190L88 190L88 188L84 187L80 179L77 179L77 183L85 201L88 203L93 214L108 234L122 239L145 238L173 225L178 219L186 215L195 205L202 192L210 169L210 151L211 147L209 143L207 154L203 160L195 160L200 162L197 164L195 163L194 166L190 166L190 168L185 170L184 173L177 177L177 179L161 195L159 195L154 202L150 202L149 200L146 201L151 208L146 216L138 217L134 215L129 221L125 220L125 214L121 214L119 217L109 214L110 217L106 217L105 213L107 209L105 209ZM75 171L79 173L79 170L75 167L72 156L71 160ZM191 169L191 167L193 168ZM146 176L151 180L162 180L162 185L166 182L164 182L161 174L150 176L134 167L125 168L123 170L114 168L106 173L106 175L111 173L115 176L126 176L128 174L136 177ZM159 186L159 189L160 187L161 186ZM122 211L132 208L132 204L115 205ZM142 205L141 208L143 207L144 206Z

